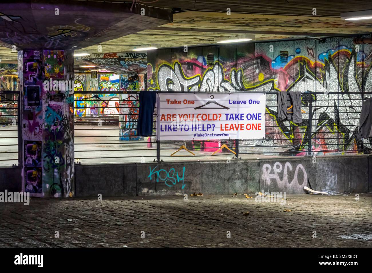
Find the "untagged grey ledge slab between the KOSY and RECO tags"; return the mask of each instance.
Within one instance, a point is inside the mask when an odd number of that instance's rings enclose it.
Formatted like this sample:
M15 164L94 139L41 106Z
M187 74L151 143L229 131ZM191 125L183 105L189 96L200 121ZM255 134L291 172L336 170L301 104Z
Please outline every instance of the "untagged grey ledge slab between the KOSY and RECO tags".
M229 163L228 163L229 162ZM200 189L211 194L254 194L259 190L259 160L230 159L200 163Z

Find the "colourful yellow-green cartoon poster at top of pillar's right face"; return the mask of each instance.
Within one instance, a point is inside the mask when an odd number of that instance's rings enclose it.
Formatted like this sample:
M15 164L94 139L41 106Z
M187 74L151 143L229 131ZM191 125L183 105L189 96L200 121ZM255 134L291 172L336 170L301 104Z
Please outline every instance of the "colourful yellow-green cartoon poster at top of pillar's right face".
M45 79L64 79L64 51L44 50Z

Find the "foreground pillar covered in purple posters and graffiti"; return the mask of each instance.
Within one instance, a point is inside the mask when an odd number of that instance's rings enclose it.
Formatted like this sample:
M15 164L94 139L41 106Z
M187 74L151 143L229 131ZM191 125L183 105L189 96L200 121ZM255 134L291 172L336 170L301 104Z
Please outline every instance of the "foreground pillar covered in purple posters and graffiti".
M73 52L24 50L20 62L23 189L37 197L72 197Z

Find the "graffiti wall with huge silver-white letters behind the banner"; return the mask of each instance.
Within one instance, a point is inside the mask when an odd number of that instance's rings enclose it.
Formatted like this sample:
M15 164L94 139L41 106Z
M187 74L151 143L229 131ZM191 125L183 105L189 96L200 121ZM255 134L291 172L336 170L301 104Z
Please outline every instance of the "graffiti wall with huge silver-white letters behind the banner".
M302 95L302 123L279 121L276 94L266 96L266 139L247 144L308 147L312 103L315 155L371 152L371 141L357 140L362 98L372 91L371 45L352 39L295 40L239 45L163 49L148 54L147 86L162 92L313 91ZM328 92L341 92L328 94Z

